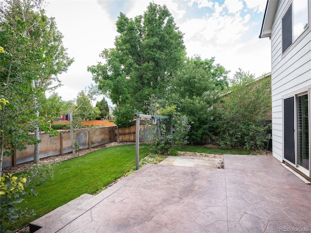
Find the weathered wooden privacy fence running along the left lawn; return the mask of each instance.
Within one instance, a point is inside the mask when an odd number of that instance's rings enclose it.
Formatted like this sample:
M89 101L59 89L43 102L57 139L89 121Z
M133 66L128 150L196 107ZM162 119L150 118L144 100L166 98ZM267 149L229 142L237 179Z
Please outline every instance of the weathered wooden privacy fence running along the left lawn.
M146 128L146 124L140 125L140 130ZM120 142L135 142L135 125L127 128L119 128ZM79 150L104 145L109 142L117 141L117 127L109 126L91 129L75 130L74 137L78 138ZM63 130L56 136L50 137L48 133L40 134L40 159L50 156L63 155L72 152L70 131ZM34 160L34 145L25 145L26 150L15 150L13 156L3 156L2 167L16 166L17 164L27 163Z

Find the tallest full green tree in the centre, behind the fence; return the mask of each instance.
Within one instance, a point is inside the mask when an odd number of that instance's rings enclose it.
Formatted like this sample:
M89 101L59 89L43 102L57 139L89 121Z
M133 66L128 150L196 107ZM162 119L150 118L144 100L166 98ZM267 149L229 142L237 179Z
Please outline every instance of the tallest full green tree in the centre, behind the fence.
M150 3L134 19L120 13L115 48L101 53L105 64L88 67L93 80L117 109L146 112L151 95L165 98L173 73L183 64L185 46L167 7Z

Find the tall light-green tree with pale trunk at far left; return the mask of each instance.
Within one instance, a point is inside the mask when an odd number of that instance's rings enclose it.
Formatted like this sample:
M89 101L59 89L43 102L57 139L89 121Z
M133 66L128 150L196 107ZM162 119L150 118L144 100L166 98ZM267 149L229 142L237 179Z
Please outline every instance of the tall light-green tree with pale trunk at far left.
M44 120L39 117L38 98L52 81L59 83L57 75L73 62L54 18L45 16L42 4L42 0L4 0L0 6L0 40L7 50L1 57L1 96L12 103L1 115L1 124L8 127L3 145L12 154L13 149L23 149L24 142L34 143L35 162L39 162L38 126ZM28 137L29 130L34 137ZM8 139L12 132L18 132L14 141Z

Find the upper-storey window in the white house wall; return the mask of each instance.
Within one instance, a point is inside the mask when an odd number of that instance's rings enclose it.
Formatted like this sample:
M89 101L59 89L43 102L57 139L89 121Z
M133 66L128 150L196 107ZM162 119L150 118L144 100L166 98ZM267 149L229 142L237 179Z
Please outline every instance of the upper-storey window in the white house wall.
M285 52L308 26L308 0L293 0L282 18L282 52Z

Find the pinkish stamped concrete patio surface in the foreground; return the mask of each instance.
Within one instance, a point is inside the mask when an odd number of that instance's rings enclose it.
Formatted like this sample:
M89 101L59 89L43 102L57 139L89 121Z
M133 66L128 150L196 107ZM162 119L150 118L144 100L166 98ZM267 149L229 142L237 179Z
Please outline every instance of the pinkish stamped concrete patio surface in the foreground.
M311 232L311 185L272 156L146 165L37 233Z

